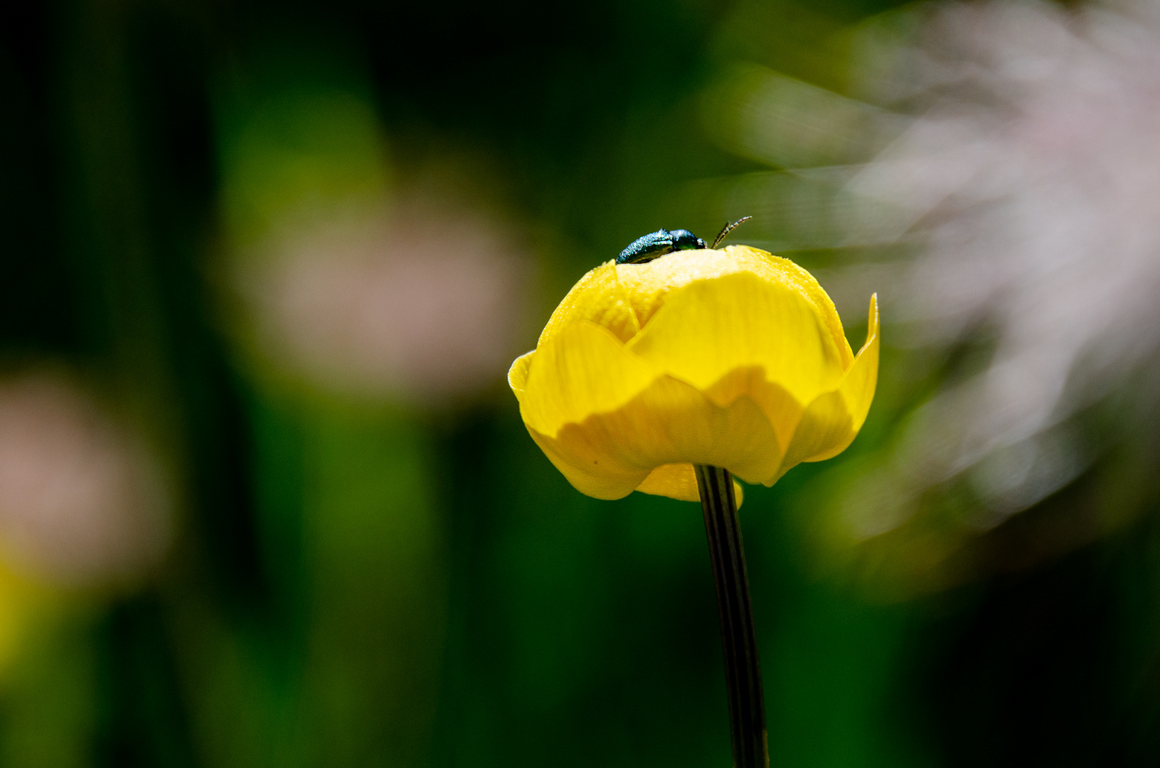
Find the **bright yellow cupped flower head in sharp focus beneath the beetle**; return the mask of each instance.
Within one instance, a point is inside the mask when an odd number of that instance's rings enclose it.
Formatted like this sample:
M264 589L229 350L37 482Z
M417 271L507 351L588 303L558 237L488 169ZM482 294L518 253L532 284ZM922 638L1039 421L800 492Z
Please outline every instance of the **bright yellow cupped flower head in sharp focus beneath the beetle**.
M818 281L747 246L596 267L508 371L528 432L577 490L690 501L693 464L773 485L836 456L877 378L877 298L855 356Z

